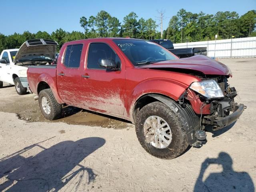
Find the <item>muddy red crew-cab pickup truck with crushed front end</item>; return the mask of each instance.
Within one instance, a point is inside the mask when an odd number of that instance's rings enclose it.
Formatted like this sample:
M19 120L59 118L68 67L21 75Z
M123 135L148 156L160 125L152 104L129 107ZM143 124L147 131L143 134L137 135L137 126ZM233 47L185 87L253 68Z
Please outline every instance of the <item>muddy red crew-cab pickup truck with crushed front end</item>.
M202 146L206 126L228 126L245 108L234 102L227 66L202 55L179 59L145 40L67 42L56 65L29 66L27 73L45 118L60 118L67 104L129 120L142 147L158 158Z

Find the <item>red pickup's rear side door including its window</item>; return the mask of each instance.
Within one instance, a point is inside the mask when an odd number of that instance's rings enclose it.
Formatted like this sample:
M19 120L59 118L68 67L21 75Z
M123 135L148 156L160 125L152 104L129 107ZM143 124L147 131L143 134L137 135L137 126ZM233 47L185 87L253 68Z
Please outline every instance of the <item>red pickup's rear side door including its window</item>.
M66 46L62 58L57 64L57 88L60 98L73 106L81 107L81 68L84 63L82 55L83 44L70 44Z

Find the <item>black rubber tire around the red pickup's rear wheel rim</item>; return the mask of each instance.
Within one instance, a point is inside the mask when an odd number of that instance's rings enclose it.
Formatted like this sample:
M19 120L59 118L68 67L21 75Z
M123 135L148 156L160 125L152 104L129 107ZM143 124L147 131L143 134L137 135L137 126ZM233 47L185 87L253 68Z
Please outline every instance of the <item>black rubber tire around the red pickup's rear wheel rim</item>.
M46 114L44 112L44 109L42 107L42 97L46 97L49 102L50 110L51 110L50 114ZM38 96L38 102L39 102L40 110L46 119L54 120L54 119L58 119L61 117L62 104L59 104L56 101L51 89L44 89L44 90L40 91L39 96Z

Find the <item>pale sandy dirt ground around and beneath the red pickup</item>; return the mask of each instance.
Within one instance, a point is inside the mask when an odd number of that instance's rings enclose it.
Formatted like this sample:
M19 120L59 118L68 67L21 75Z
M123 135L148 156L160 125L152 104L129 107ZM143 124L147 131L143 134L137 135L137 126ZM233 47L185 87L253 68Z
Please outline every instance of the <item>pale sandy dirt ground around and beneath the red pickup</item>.
M254 191L256 58L222 59L233 73L240 119L208 131L202 148L161 160L140 146L134 125L66 107L45 120L34 95L0 89L0 191Z

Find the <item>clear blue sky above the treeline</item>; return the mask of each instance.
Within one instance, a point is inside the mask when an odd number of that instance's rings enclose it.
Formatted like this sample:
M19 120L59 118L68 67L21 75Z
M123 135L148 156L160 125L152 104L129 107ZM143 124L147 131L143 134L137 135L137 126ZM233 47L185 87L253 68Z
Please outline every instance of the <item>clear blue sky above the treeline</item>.
M241 4L242 2L242 4ZM96 16L106 10L122 22L124 16L134 11L138 18L156 20L157 10L165 10L164 29L170 17L181 8L198 13L215 14L218 11L236 11L240 16L248 10L256 9L256 0L4 0L0 10L0 33L23 33L46 31L51 33L57 28L68 32L83 31L80 27L81 16Z

